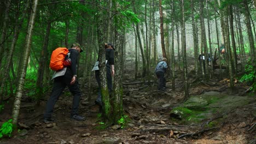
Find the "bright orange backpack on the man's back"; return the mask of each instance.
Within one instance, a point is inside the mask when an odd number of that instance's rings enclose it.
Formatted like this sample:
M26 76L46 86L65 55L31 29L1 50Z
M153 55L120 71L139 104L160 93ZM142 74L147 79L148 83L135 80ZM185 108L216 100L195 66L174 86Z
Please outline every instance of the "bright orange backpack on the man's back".
M64 68L63 62L68 53L66 47L58 47L51 53L50 68L55 71L59 71Z

